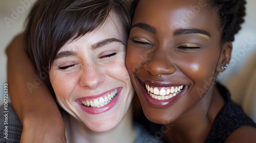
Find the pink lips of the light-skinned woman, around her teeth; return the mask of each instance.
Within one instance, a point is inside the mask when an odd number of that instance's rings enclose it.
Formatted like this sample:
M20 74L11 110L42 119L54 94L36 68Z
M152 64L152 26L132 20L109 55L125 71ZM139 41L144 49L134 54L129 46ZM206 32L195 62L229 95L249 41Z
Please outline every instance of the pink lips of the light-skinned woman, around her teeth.
M101 97L101 96L104 96L105 94L108 94L108 93L113 92L113 91L116 90L116 89L117 89L116 97L113 98L113 100L112 100L110 103L106 104L106 105L103 106L103 107L99 107L99 108L96 108L96 107L87 107L87 106L82 105L82 103L81 103L81 101L82 101L83 99L92 99L92 98L95 99L95 98L99 98L99 97ZM112 108L116 105L116 103L117 103L117 101L118 101L118 99L119 99L119 95L120 95L121 90L122 90L122 87L118 87L118 88L115 88L115 89L111 89L111 90L106 91L106 92L104 92L104 93L100 93L100 94L98 94L98 95L96 95L96 96L90 96L90 97L87 97L87 98L80 98L80 99L77 99L77 100L76 100L76 103L80 106L80 108L81 108L83 111L85 111L85 112L87 112L87 113L89 113L89 114L99 114L99 113L103 113L103 112L106 112L106 111L112 109Z

